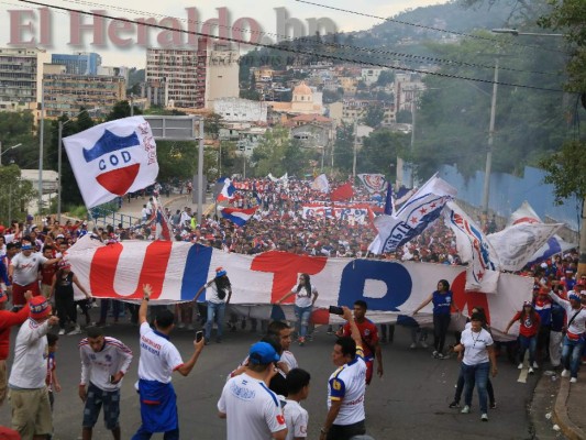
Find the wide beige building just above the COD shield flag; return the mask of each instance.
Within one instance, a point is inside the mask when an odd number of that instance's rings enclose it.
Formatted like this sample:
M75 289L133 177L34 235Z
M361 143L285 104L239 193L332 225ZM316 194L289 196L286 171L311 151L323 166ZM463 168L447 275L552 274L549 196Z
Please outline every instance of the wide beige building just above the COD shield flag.
M104 117L126 99L126 81L120 76L46 74L43 82L48 119L81 109L97 109L93 114Z

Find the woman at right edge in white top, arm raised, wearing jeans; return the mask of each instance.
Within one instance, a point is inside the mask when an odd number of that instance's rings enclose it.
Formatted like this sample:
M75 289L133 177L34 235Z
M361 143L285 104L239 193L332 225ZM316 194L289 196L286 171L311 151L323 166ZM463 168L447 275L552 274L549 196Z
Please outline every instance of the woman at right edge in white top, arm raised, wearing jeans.
M586 309L582 307L579 295L570 290L567 299L562 299L555 293L550 292L550 297L562 306L566 312L567 326L562 348L562 377L571 376L570 382L578 381L582 351L586 342Z

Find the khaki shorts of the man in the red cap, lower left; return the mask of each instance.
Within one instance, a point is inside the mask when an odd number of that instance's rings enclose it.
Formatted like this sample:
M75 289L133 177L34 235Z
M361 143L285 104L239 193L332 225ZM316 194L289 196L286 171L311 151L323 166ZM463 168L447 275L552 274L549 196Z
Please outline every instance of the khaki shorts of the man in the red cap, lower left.
M10 389L8 398L12 406L12 428L23 439L48 436L53 432L53 417L48 389Z

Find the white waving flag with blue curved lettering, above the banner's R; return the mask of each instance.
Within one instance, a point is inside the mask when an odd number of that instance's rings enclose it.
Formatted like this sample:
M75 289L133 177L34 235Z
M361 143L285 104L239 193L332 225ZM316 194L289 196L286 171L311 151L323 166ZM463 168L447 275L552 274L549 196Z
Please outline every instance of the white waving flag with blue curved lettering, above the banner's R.
M456 193L454 187L434 175L395 216L383 215L375 219L378 235L368 249L373 253L395 252L438 219L444 205Z

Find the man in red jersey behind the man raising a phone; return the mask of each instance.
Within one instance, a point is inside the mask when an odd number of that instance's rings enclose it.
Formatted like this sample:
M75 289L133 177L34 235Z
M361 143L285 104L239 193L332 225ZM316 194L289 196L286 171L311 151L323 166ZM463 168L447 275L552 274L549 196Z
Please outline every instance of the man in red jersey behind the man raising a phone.
M374 359L376 358L378 367L376 373L378 377L383 377L383 353L380 352L380 344L378 343L378 329L373 321L366 318L367 310L366 301L358 299L354 302L354 322L358 327L362 338L362 348L364 351L364 362L366 363L366 385L371 384L373 378ZM346 322L342 328L343 337L352 334L350 322Z

